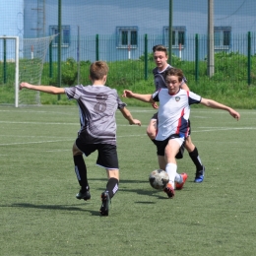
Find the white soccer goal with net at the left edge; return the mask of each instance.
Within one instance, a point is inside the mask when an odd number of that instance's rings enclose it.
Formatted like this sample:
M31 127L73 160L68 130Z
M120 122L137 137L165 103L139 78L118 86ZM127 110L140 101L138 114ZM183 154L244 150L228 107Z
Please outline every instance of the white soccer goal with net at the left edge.
M23 38L19 36L0 36L0 41L4 41L2 56L0 55L3 65L12 65L8 68L7 77L11 81L7 82L5 86L6 92L13 92L15 94L15 104L18 106L25 105L40 105L40 94L36 91L19 90L21 82L28 82L32 85L39 85L41 82L41 73L43 69L43 62L45 55L53 36L45 36L38 38ZM14 43L15 41L15 43ZM1 48L1 47L0 47ZM6 64L7 63L7 64ZM12 80L12 77L15 80ZM2 102L5 103L5 102Z

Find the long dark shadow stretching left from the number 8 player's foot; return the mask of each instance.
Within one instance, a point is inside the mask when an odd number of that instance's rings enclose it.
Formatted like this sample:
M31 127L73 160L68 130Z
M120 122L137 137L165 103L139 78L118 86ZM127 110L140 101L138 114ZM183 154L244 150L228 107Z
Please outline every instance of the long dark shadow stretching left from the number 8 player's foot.
M3 207L3 206L1 206ZM20 203L20 204L12 204L11 206L6 206L6 207L17 207L17 208L31 208L31 209L41 209L41 210L58 210L58 211L77 211L77 212L89 212L91 213L92 216L99 216L99 211L92 211L88 209L82 209L80 207L75 207L75 206L63 206L63 205L34 205L34 204L29 204L29 203Z

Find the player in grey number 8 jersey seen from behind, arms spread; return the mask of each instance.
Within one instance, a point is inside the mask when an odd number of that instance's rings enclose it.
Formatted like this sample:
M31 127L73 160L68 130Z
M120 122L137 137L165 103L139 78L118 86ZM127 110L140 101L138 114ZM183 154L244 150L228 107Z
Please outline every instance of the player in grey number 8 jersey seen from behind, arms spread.
M101 193L102 204L99 209L101 216L108 216L109 203L118 190L119 167L116 152L115 111L119 109L130 124L141 125L126 108L116 90L105 86L108 66L103 61L96 61L90 67L92 86L76 86L57 88L52 86L33 86L21 83L20 89L30 89L47 94L66 94L69 99L76 99L79 105L81 129L73 145L75 172L81 189L77 199L91 199L87 176L87 166L83 158L97 151L96 164L104 167L107 174L106 189Z

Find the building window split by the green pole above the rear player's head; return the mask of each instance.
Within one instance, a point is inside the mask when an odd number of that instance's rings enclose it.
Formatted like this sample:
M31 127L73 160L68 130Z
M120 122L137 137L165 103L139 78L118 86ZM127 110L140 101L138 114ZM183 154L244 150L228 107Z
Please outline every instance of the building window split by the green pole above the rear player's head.
M186 27L172 28L172 48L178 48L179 45L183 48L186 42ZM169 27L163 27L163 43L168 47Z

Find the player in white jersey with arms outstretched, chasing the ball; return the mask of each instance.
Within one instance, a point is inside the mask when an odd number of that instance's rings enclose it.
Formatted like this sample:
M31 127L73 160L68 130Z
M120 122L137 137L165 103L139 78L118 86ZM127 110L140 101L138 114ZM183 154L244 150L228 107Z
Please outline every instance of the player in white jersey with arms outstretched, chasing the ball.
M180 89L182 77L181 70L169 69L166 72L166 89L160 89L153 95L139 95L128 90L123 94L145 102L160 102L156 145L159 161L166 161L165 171L169 175L169 183L164 192L169 198L174 196L174 179L177 171L175 156L188 136L190 105L201 103L208 107L224 109L237 120L240 118L240 114L231 107Z

